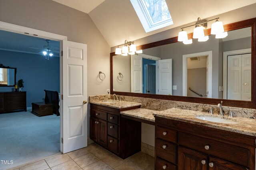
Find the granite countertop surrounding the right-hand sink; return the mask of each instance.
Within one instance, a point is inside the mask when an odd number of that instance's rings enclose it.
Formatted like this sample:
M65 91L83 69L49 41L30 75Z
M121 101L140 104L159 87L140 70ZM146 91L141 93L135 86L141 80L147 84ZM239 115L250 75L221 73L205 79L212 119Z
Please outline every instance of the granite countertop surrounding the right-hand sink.
M243 117L230 118L225 115L224 116L225 118L234 120L237 123L236 124L215 123L211 121L204 121L201 119L197 119L195 117L196 115L209 115L206 112L177 109L177 108L171 108L164 111L155 111L154 115L158 117L167 118L167 119L193 123L196 125L202 125L206 127L212 127L216 129L222 129L225 131L241 133L244 135L250 135L250 136L256 137L256 120L255 119L248 119ZM221 117L218 115L212 115L212 116Z

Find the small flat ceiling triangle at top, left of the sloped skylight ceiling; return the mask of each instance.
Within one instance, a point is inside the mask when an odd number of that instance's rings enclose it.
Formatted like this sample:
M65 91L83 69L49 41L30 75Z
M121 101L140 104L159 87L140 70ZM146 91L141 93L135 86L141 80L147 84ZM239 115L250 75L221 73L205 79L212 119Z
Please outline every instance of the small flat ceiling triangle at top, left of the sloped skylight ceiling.
M89 13L91 12L96 6L100 5L104 0L53 0L60 4L69 6L76 10Z

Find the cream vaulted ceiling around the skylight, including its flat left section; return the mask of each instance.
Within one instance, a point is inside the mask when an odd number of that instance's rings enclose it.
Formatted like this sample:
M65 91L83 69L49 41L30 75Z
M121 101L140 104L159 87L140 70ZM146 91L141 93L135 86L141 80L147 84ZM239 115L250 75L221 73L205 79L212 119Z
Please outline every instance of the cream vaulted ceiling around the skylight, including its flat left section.
M166 0L173 25L146 33L130 0L54 0L88 14L110 47L256 3L256 0ZM83 4L81 4L83 2ZM84 10L83 12L86 12ZM220 18L221 20L221 18ZM224 24L226 21L223 21ZM166 37L169 38L169 37Z

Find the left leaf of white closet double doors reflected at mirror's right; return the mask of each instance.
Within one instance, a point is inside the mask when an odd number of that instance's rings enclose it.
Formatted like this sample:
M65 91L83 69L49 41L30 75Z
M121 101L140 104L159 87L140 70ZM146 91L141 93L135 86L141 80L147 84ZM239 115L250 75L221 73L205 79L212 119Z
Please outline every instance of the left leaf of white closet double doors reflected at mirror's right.
M227 99L241 100L242 55L228 56Z

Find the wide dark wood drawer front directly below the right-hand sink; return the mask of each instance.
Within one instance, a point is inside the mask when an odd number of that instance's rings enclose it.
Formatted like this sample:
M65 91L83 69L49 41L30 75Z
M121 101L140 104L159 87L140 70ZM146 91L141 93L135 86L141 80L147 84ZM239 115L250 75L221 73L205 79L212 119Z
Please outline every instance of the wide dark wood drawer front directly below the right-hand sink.
M178 143L184 147L210 154L236 164L249 166L250 150L248 149L235 147L182 132L178 134ZM206 149L206 146L208 146L209 149Z

